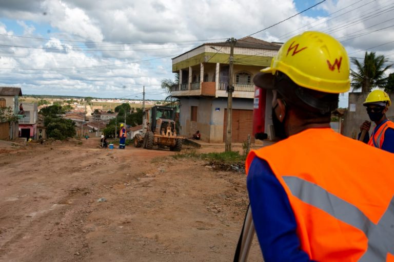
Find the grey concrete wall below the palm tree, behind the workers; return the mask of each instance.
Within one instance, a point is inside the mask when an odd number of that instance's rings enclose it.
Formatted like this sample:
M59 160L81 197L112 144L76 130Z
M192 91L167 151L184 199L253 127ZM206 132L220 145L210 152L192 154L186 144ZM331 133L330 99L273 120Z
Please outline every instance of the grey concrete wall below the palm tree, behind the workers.
M363 102L365 101L367 95L368 94L363 93L349 93L348 110L344 115L343 135L356 139L360 133L360 125L365 120L370 121L365 106L363 106ZM391 101L394 101L394 94L390 93L389 96ZM394 106L391 105L389 107L386 116L390 120L394 119ZM372 123L372 127L373 126L375 126L375 124Z

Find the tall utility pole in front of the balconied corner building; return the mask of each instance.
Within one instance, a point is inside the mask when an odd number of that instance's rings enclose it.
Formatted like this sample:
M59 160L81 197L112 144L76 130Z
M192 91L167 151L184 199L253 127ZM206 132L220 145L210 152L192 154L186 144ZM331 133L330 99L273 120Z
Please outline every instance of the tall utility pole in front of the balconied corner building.
M232 92L234 86L232 86L232 69L234 66L234 46L235 39L231 37L230 41L230 58L229 58L229 69L228 69L228 86L227 86L227 133L226 133L226 149L225 151L231 151L231 127L232 127Z

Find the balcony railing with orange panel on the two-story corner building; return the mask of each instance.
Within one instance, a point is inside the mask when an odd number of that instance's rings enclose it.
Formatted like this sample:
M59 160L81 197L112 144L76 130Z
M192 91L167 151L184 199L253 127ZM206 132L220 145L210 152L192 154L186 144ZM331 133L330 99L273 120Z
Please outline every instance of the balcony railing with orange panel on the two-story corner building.
M174 97L183 96L214 96L227 97L227 82L193 82L189 84L173 85L171 87L171 95ZM233 84L234 92L232 96L235 98L254 98L253 84Z

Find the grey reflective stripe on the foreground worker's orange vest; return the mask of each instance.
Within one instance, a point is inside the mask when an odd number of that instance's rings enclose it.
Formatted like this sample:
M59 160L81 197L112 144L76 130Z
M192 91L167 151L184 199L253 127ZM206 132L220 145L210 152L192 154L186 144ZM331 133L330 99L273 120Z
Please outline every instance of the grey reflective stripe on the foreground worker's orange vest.
M368 238L368 248L359 261L383 262L386 261L387 253L394 254L394 196L376 225L356 206L316 184L297 177L283 177L283 179L294 197L364 232Z

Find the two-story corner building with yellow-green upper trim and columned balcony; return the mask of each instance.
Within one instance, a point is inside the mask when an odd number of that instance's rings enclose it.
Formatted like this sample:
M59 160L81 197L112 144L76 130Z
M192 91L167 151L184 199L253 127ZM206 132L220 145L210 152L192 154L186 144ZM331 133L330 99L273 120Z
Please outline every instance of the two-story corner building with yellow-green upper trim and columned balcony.
M244 142L248 135L253 137L253 76L270 66L280 47L250 36L235 42L231 76L232 142ZM180 99L181 135L191 137L199 130L204 141L225 141L229 54L230 43L217 42L204 43L172 58L172 72L179 74L179 85L172 87L171 95ZM271 106L272 95L268 93L264 107ZM272 121L269 116L265 119L265 128L269 130Z

